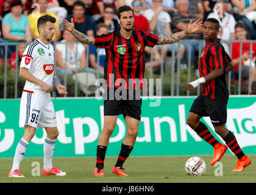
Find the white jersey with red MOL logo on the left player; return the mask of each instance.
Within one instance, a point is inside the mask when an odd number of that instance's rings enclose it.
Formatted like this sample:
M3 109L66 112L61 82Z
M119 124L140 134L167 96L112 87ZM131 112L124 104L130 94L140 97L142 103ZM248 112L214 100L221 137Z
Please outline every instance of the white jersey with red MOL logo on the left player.
M54 62L55 53L52 44L43 44L36 39L24 51L20 68L27 68L30 74L52 87ZM40 85L28 80L24 88L43 90Z

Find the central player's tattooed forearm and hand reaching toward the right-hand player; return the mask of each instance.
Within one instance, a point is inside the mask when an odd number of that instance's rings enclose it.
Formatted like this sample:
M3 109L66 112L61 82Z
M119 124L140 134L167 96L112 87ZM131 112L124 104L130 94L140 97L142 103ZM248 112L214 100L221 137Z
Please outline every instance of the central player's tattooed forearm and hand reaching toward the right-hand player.
M202 24L202 21L200 21L200 19L197 19L197 21L195 21L193 24L192 24L192 20L190 20L190 24L188 24L188 29L183 30L181 32L176 32L169 36L161 36L161 37L159 37L157 44L175 43L175 42L187 37L189 34L192 34L194 32L201 30L202 25L203 24Z

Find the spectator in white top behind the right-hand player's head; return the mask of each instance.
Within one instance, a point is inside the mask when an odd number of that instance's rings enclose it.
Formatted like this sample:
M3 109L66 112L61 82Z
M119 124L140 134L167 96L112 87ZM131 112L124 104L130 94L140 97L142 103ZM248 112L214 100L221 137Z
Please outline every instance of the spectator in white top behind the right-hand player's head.
M222 41L235 40L235 18L233 15L227 12L227 5L223 1L218 1L215 4L213 12L208 15L208 18L215 18L219 21L219 26L222 28ZM223 44L227 53L229 53L229 47L227 44Z

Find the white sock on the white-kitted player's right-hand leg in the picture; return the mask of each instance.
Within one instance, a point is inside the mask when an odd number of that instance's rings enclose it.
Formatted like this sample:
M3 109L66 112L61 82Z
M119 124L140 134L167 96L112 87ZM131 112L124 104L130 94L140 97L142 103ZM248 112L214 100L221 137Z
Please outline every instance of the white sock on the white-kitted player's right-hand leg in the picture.
M43 168L46 171L50 171L52 169L52 155L54 153L54 146L56 140L50 140L49 138L45 138L44 145L43 145L43 154L44 154L44 161L43 161Z

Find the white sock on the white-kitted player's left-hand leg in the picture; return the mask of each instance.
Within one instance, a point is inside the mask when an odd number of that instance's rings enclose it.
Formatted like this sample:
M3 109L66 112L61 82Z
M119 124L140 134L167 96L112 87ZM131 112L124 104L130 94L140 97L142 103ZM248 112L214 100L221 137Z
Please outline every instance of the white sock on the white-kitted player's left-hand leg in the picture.
M27 143L27 141L25 141L23 138L21 138L20 142L18 143L18 145L16 147L11 171L14 171L15 169L20 169L20 163L24 158L24 155L25 155L28 145L29 145L29 143Z

